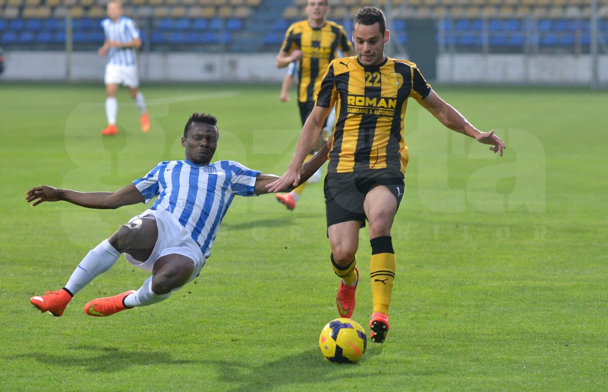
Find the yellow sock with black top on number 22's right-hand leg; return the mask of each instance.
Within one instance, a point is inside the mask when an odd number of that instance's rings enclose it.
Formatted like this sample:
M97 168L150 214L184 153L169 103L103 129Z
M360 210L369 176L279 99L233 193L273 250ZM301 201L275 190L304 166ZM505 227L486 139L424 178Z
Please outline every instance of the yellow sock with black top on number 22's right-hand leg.
M389 313L390 295L395 281L395 250L390 236L371 239L371 300L374 312Z

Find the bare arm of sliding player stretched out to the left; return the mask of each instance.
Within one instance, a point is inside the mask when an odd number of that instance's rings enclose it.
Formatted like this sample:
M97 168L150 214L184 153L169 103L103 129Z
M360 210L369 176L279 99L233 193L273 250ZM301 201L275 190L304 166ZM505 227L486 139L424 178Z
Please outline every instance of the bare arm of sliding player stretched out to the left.
M86 208L114 209L123 205L141 203L144 199L133 184L126 185L114 193L78 192L43 185L27 191L26 201L33 202L32 207L45 201L67 201Z

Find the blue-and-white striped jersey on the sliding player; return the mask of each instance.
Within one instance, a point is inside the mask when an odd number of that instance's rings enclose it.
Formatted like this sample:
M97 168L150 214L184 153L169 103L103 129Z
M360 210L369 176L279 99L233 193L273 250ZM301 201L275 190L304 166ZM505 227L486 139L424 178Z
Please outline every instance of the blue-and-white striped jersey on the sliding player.
M190 232L208 258L213 241L235 194L254 196L260 173L232 160L195 165L187 159L161 162L133 184L151 210L167 210Z

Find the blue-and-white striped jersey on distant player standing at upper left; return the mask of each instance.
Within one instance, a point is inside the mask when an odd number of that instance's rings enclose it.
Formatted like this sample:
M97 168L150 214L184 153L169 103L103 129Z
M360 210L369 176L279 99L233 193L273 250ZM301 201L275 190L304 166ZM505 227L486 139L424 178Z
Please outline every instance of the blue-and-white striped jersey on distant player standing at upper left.
M120 16L116 23L110 18L103 19L102 27L106 34L106 40L126 43L139 38L139 29L135 26L135 22L126 16ZM136 65L135 50L132 47L109 48L108 64Z

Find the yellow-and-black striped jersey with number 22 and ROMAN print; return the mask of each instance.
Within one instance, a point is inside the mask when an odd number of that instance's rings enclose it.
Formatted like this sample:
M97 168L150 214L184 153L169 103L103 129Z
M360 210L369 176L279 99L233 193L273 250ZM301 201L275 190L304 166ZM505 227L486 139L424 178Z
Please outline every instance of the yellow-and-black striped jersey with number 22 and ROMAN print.
M316 102L323 108L336 102L328 172L392 168L404 174L407 98L424 99L431 91L407 60L385 58L376 66L363 66L356 56L331 61Z

